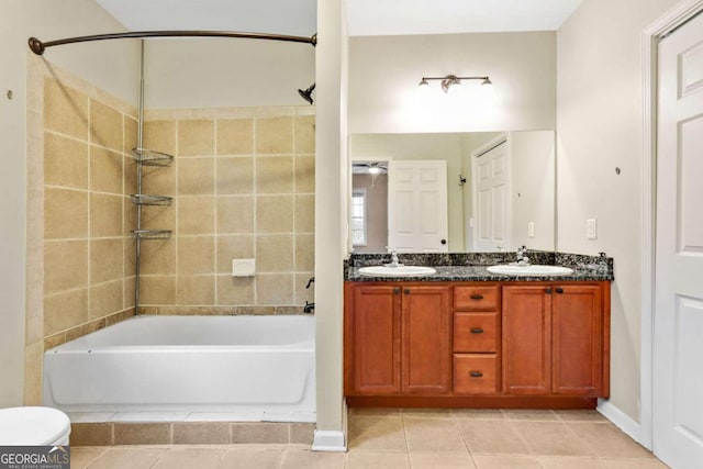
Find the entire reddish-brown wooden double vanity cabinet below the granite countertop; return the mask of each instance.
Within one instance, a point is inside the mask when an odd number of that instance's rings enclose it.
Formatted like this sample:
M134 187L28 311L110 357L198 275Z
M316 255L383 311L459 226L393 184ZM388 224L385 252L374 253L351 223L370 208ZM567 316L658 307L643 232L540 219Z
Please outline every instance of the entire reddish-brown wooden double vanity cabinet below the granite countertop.
M610 282L347 282L350 405L593 407Z

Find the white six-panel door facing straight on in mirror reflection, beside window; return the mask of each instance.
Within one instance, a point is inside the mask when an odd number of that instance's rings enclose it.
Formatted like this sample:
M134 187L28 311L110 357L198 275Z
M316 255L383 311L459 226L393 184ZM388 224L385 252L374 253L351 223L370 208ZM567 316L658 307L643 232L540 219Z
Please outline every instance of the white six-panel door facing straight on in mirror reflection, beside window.
M447 235L447 161L389 161L388 246L446 253Z

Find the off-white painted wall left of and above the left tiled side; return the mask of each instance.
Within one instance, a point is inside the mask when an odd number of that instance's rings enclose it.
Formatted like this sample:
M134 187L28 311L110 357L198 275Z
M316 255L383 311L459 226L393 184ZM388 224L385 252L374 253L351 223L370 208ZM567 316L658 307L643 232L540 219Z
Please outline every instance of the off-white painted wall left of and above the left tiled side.
M89 0L5 1L0 15L0 407L22 403L26 225L26 55L29 36L49 41L123 31ZM113 42L49 48L46 59L136 103L134 44ZM5 97L13 91L13 99Z

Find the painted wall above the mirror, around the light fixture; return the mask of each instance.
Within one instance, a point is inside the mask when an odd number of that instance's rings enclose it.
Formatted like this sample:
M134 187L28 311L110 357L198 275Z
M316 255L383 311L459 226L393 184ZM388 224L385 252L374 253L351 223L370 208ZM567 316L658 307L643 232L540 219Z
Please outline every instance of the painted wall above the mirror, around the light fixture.
M422 77L490 76L494 99L451 98ZM556 34L364 36L349 41L349 133L554 130Z

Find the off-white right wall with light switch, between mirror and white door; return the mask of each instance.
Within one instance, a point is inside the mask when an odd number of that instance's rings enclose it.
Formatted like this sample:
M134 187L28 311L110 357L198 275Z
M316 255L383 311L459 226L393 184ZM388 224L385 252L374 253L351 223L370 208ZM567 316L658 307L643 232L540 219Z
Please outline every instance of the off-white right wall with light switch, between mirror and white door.
M640 391L640 34L676 3L585 0L557 33L558 249L604 250L615 258L611 402L635 421ZM587 219L598 220L596 241L585 238Z

